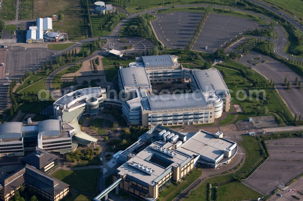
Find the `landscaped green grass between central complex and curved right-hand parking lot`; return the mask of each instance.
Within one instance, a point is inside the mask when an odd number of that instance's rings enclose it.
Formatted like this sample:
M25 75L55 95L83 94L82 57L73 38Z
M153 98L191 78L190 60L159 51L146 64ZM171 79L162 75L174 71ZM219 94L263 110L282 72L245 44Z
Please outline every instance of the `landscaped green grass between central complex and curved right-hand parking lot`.
M262 60L262 59L261 59ZM225 67L220 67L225 66ZM286 106L286 104L282 101L281 97L279 96L278 92L275 90L270 89L269 82L259 73L249 69L247 66L238 63L238 62L226 62L224 65L216 65L215 66L219 71L224 73L224 81L231 91L231 97L233 98L233 104L240 104L244 110L244 114L239 115L240 118L246 119L247 116L256 116L255 108L260 106L263 107L263 103L260 100L255 98L255 95L248 94L248 97L245 100L238 100L236 98L236 93L238 90L243 89L257 89L257 90L265 90L266 94L266 107L269 111L274 113L282 114L286 120L291 122L293 117ZM232 69L231 69L232 68ZM242 74L240 70L244 70L245 74ZM253 86L251 81L249 81L245 76L249 77L252 80L258 80L258 87ZM268 87L266 87L266 84ZM249 100L249 95L251 100ZM239 97L244 97L243 94L239 93ZM263 96L259 96L260 99L263 99ZM258 114L258 115L270 115L269 113ZM238 118L239 119L239 118Z

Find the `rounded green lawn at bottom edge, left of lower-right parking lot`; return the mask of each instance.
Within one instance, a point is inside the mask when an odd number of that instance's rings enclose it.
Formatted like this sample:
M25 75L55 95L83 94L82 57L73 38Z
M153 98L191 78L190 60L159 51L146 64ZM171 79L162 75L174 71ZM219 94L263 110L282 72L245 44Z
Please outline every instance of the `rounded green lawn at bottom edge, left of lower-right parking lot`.
M248 200L262 197L261 193L251 189L241 182L229 183L218 187L217 200Z

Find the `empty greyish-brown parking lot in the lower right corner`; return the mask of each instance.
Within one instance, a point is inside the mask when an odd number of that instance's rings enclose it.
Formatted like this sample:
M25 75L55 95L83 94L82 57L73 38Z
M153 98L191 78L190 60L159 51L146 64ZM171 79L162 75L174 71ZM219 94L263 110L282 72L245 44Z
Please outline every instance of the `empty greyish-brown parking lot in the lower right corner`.
M266 195L300 175L303 171L303 138L286 138L266 142L270 157L243 182ZM279 186L280 187L280 186Z

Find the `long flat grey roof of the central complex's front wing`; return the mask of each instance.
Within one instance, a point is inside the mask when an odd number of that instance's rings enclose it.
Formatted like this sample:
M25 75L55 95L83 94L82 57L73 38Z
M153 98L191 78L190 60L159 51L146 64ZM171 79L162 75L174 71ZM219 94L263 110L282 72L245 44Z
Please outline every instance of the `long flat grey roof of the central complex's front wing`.
M148 96L147 98L150 108L146 108L148 106L145 104L145 110L207 106L205 97L202 93L170 94L161 96Z

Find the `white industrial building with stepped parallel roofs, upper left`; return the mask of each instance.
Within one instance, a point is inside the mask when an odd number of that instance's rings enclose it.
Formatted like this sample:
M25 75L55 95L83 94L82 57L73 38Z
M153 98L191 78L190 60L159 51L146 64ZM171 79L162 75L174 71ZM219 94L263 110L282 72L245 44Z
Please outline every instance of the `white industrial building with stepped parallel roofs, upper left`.
M52 32L52 18L38 18L36 26L29 27L26 32L26 43L42 43L43 35Z

